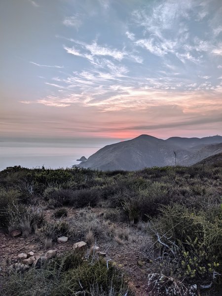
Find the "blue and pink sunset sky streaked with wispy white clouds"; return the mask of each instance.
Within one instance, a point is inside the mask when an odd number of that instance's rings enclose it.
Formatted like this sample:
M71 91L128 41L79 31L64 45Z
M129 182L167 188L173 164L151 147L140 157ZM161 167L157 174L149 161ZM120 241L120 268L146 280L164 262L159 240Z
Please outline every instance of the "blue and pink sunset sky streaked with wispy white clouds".
M1 0L0 137L222 134L221 16L221 0Z

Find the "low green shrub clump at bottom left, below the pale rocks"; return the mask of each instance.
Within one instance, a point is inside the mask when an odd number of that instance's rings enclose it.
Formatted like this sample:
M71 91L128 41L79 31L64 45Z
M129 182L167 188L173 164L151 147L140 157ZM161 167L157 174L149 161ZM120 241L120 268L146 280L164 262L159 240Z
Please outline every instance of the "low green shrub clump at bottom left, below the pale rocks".
M0 278L1 296L133 296L122 273L104 259L65 253L41 269L11 271Z

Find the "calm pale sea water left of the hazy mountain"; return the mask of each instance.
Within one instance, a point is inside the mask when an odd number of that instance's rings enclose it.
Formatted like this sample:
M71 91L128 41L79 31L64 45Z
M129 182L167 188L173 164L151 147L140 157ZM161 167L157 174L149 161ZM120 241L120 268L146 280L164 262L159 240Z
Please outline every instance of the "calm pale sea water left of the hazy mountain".
M78 164L81 156L88 158L103 146L73 143L0 142L0 170L21 165L27 168L66 168Z

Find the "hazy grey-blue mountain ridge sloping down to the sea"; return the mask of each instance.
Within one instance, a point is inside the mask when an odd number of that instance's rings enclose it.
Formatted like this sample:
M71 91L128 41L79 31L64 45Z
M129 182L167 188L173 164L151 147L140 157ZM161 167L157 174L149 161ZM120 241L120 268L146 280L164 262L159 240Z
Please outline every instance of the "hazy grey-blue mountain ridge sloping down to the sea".
M105 146L79 166L106 170L135 171L144 167L189 166L222 152L222 136L205 138L171 137L167 140L140 135L132 140Z

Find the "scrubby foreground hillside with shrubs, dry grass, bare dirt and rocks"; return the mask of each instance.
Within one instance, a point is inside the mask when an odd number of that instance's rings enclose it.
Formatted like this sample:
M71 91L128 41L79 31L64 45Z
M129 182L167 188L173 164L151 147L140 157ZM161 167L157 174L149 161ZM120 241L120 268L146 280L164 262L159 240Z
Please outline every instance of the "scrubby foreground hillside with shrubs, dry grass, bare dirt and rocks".
M220 295L221 198L216 165L8 167L0 295Z

